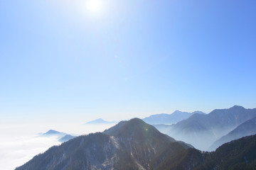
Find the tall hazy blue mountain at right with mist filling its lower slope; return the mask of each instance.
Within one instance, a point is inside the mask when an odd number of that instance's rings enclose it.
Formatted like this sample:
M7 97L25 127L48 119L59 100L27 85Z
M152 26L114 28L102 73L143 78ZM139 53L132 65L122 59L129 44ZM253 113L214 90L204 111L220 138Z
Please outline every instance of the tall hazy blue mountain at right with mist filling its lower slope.
M245 109L233 106L228 109L216 109L209 114L193 114L175 125L156 125L160 132L187 142L193 147L207 150L223 135L256 116L256 108Z

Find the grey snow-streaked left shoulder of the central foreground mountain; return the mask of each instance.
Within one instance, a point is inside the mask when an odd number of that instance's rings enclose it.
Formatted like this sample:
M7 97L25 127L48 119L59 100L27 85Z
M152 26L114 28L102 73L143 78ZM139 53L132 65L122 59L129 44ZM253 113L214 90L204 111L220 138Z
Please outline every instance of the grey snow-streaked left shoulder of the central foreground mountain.
M43 154L33 157L20 169L138 169L128 152L123 151L117 142L103 133L76 137L58 147L51 147Z

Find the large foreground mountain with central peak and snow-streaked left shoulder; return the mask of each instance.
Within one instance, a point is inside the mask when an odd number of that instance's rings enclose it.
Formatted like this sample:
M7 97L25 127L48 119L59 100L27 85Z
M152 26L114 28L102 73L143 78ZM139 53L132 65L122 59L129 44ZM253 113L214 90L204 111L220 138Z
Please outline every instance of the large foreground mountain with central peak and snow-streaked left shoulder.
M174 156L190 145L176 142L134 118L90 135L75 137L33 157L20 169L154 169L164 155ZM160 157L161 156L161 157Z

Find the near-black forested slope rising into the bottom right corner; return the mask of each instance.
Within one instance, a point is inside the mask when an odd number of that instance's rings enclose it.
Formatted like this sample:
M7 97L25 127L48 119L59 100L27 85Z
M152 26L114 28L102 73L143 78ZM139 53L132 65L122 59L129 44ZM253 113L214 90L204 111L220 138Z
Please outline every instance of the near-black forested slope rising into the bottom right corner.
M256 167L256 135L242 137L225 143L215 152L203 154L203 162L197 170L204 169L247 169L254 170Z

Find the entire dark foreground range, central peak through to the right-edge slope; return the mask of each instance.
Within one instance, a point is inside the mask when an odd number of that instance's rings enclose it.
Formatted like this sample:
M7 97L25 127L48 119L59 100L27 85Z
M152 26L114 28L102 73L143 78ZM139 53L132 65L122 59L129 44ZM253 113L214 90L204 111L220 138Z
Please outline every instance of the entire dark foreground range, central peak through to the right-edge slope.
M201 152L134 118L75 137L38 154L16 170L47 169L255 169L256 135Z

